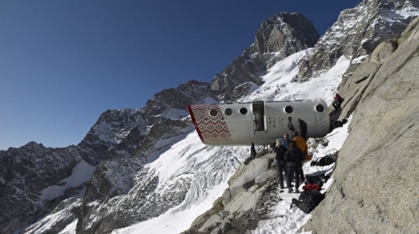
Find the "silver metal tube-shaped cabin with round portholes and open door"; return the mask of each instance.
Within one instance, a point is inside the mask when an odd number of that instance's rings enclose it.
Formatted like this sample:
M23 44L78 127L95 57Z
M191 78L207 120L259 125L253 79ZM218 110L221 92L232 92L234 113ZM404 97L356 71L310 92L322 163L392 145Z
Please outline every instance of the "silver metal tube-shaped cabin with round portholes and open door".
M288 117L297 130L300 118L308 137L329 131L328 106L316 101L252 101L189 105L192 122L205 145L267 145L289 132Z

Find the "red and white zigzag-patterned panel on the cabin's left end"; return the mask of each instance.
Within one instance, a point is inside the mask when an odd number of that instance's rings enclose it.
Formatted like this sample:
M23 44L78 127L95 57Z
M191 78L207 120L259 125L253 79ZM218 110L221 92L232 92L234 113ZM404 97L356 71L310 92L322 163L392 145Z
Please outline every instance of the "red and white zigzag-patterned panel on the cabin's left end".
M216 115L211 116L210 110L216 110ZM214 144L232 142L228 126L221 114L219 105L190 105L193 124L204 143Z

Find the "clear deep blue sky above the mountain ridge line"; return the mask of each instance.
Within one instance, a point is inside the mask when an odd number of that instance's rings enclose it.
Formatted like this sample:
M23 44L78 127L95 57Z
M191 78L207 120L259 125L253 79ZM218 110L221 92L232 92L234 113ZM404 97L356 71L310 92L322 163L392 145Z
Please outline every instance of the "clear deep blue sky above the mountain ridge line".
M77 145L105 110L210 82L267 17L300 12L323 35L360 1L0 0L0 149Z

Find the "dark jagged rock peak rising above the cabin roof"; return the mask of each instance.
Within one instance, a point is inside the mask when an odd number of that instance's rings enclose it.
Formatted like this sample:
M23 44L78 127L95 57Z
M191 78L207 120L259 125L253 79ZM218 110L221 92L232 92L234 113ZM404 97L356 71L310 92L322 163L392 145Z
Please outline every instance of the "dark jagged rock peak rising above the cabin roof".
M234 101L249 94L241 85L261 85L263 75L276 61L313 47L319 35L300 13L281 13L262 22L255 42L240 57L212 80L211 90L224 101ZM240 87L240 89L236 89Z

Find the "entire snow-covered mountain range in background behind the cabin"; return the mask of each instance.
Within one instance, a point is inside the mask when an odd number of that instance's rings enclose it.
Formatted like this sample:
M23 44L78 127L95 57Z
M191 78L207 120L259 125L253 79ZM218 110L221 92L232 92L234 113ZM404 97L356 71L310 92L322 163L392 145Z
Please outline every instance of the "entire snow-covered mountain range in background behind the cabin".
M360 74L356 68L372 59L376 45L401 34L419 15L418 8L419 1L365 0L342 11L319 39L302 15L275 15L261 24L255 42L211 84L186 82L159 92L139 110L108 110L79 145L52 149L30 142L0 151L1 232L186 231L196 217L213 208L228 188L229 178L249 157L249 147L203 145L186 105L294 98L323 98L330 104L339 87L354 87L359 80L351 78ZM278 44L279 37L287 43ZM379 58L374 56L374 61L381 62ZM339 92L345 94L345 90ZM346 99L346 112L332 112L332 119L352 115L362 103L357 92L346 94L353 96ZM313 150L321 156L341 145L330 147ZM313 173L310 170L305 166L304 171ZM288 215L270 205L273 210L259 209L265 212L263 219L267 212ZM245 217L232 216L238 221ZM247 218L259 230L269 224ZM292 219L298 220L288 220L290 233L308 216L293 212Z

